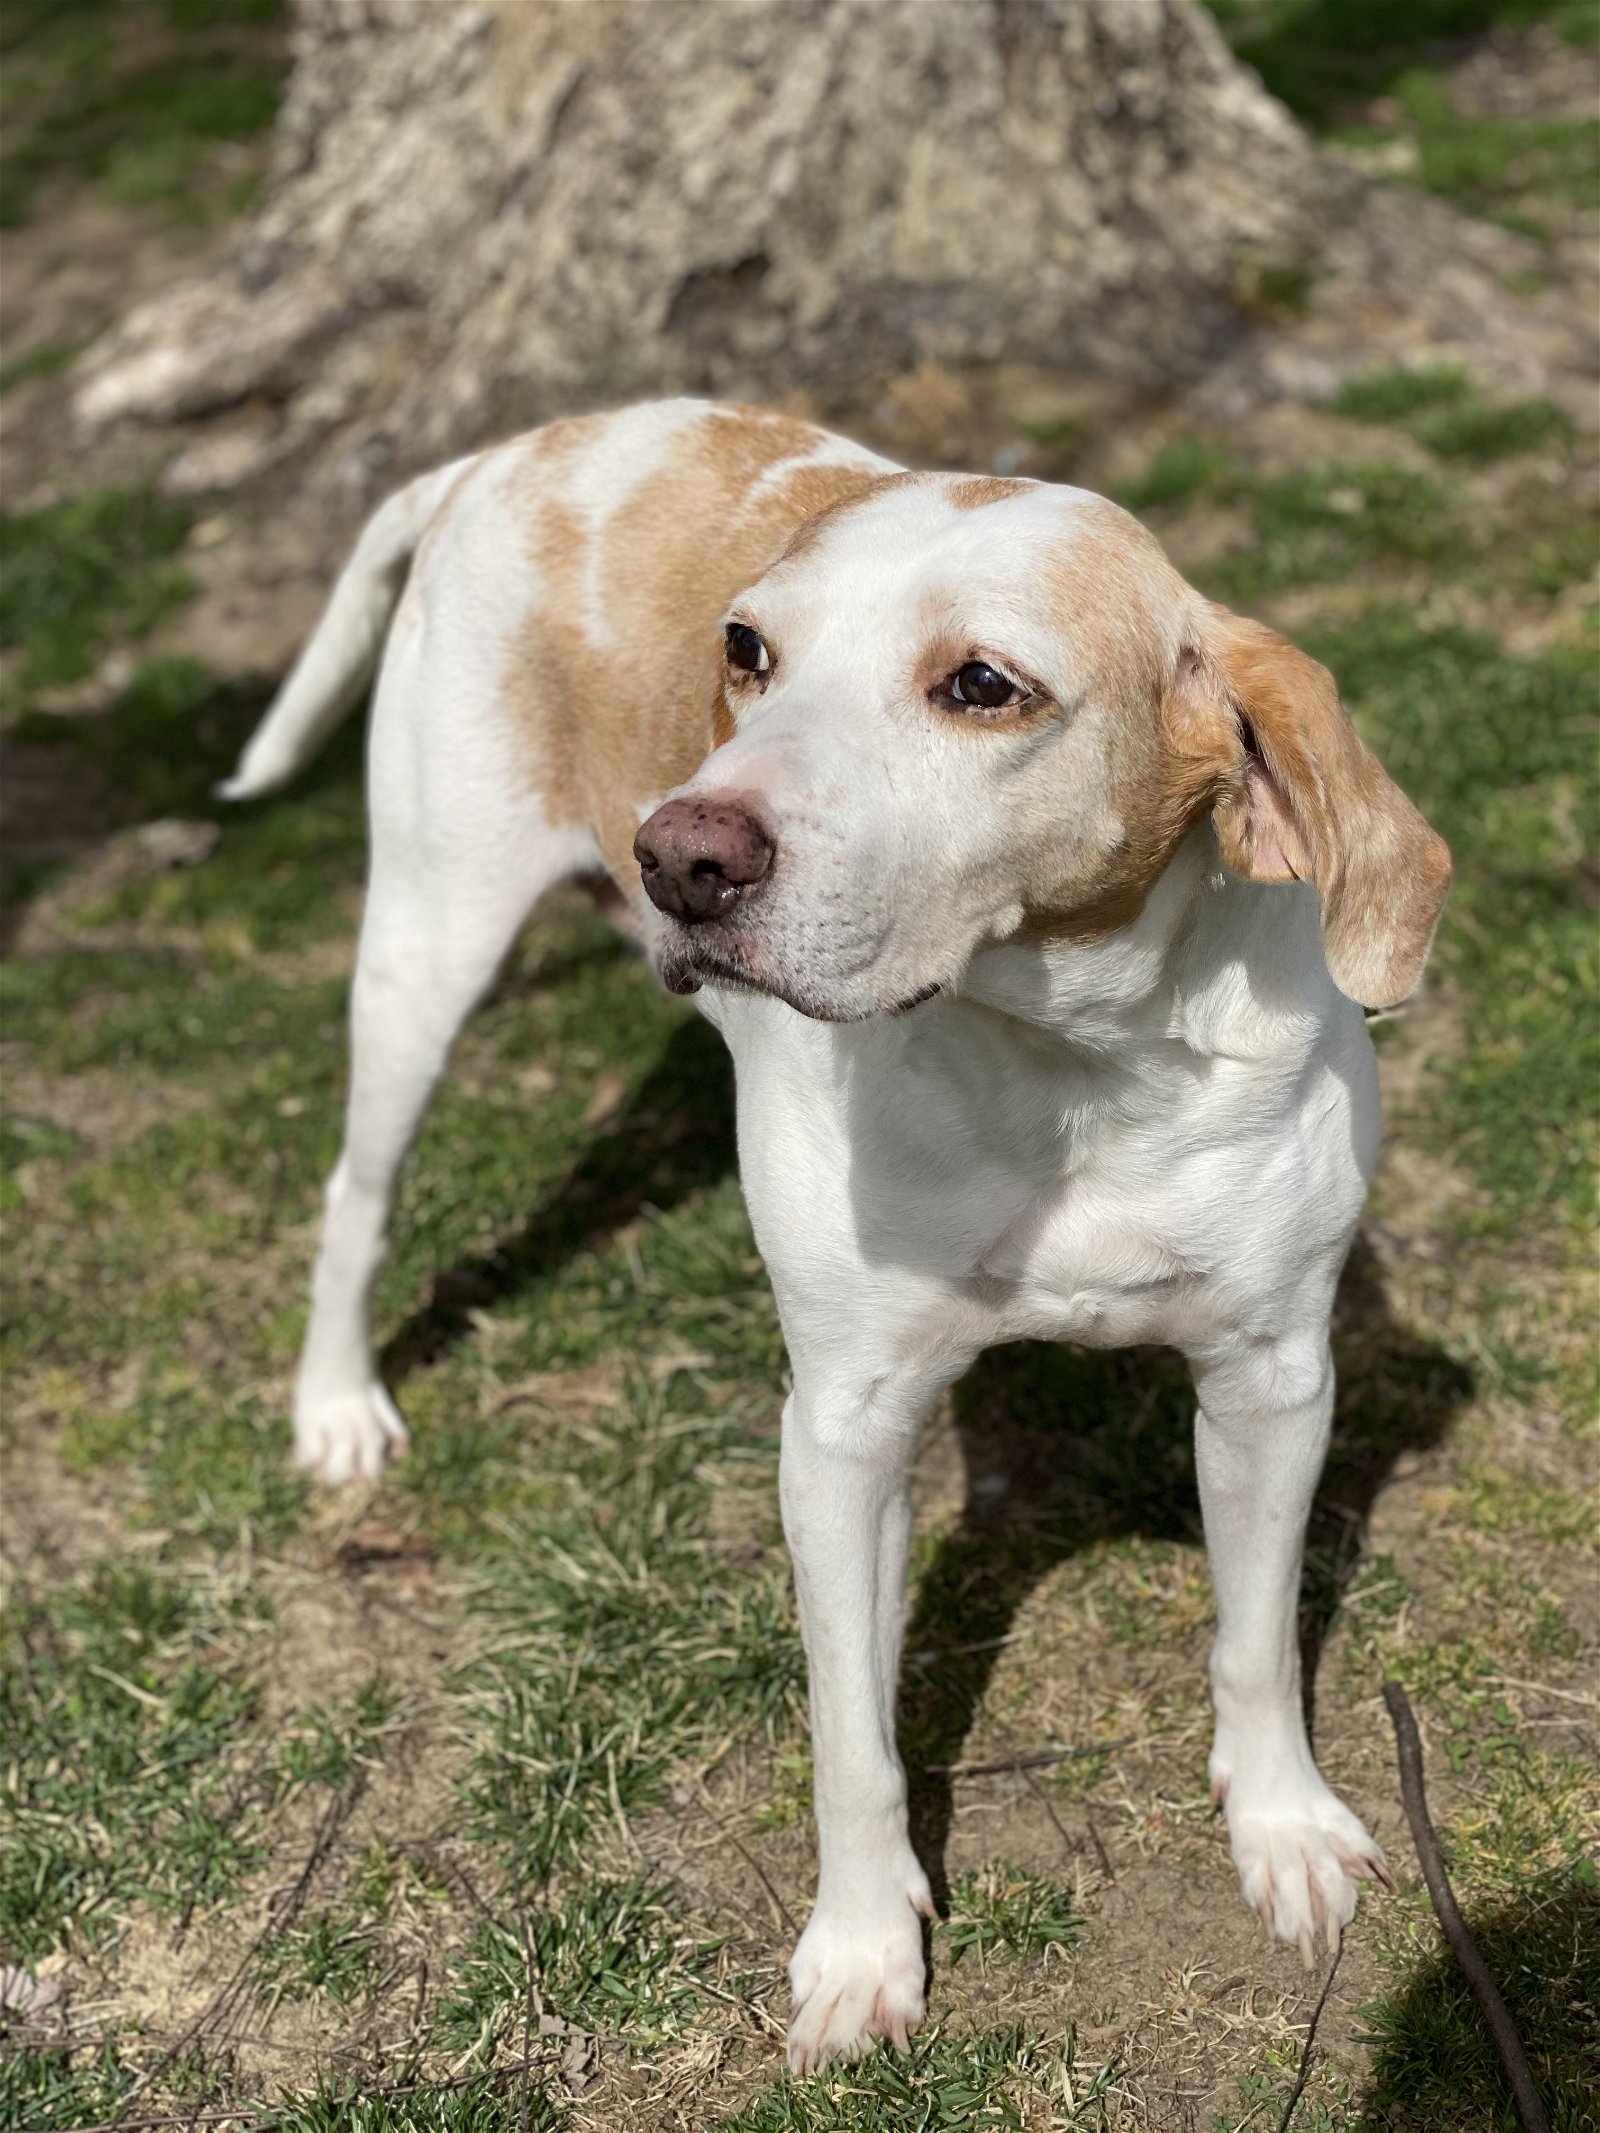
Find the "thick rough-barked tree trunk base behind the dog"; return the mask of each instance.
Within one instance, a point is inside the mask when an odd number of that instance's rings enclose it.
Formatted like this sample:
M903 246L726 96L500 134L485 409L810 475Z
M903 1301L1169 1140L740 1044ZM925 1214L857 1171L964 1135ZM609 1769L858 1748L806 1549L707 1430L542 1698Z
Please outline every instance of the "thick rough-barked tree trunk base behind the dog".
M205 418L179 486L292 467L343 520L634 395L1182 384L1370 196L1197 0L299 0L260 215L77 405Z

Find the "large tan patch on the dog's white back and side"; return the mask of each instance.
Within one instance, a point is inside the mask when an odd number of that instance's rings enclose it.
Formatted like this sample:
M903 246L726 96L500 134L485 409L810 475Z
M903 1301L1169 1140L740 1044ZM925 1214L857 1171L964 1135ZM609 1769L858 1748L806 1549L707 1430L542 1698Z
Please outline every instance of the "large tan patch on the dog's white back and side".
M563 497L565 465L593 429L574 444L557 435L567 429L540 433L553 439L533 461L531 550L542 591L514 631L501 702L525 736L553 821L587 823L612 879L638 898L640 806L683 785L734 734L717 629L727 602L762 576L796 527L879 488L885 476L804 463L802 454L834 444L809 422L721 407L672 439L666 461L595 535ZM800 463L762 488L789 459ZM589 616L595 584L599 614Z

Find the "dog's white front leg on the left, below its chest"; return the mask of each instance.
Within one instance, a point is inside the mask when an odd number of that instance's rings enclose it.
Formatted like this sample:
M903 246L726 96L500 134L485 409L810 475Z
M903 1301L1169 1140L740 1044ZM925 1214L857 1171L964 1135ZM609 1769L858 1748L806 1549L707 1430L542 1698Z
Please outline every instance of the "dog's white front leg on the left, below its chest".
M789 1962L789 2065L905 2043L924 2009L932 1896L907 1834L894 1747L909 1468L922 1401L798 1376L783 1410L783 1529L811 1664L819 1877Z

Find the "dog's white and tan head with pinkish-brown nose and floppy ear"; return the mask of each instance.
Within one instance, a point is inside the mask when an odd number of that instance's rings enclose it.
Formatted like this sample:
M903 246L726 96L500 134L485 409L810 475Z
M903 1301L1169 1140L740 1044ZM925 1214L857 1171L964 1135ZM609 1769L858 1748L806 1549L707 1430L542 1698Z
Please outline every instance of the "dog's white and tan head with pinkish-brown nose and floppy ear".
M1316 885L1346 994L1421 975L1442 840L1327 670L1103 497L885 476L732 602L721 659L732 738L636 843L678 992L909 1007L988 943L1129 926L1207 813L1233 872Z

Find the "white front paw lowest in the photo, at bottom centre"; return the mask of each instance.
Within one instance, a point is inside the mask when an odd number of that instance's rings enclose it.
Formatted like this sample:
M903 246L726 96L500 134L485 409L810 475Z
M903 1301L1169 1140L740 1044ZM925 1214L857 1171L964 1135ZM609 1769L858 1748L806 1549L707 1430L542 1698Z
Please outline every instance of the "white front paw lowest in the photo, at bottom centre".
M860 2058L877 2037L905 2050L922 2022L922 1920L932 1915L928 1879L915 1864L879 1901L811 1913L789 1960L791 2073L813 2073L830 2058Z

